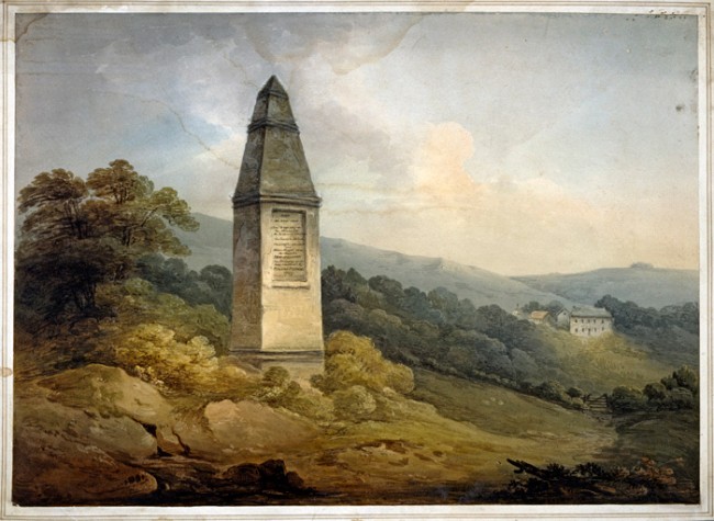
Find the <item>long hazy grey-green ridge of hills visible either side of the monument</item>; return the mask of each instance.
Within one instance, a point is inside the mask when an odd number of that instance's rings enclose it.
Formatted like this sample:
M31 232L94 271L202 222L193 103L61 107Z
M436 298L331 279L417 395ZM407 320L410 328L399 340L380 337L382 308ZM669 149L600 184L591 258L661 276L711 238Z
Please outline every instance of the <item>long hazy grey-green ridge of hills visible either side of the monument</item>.
M186 258L192 270L208 264L231 268L230 220L194 214L201 224L198 233L177 230L193 254ZM440 258L406 256L343 239L321 238L322 265L343 270L354 268L362 276L387 275L405 287L429 291L444 286L476 306L498 304L512 309L516 304L560 301L566 306L593 304L603 295L634 301L640 306L660 308L668 304L699 301L695 270L665 270L640 264L638 268L609 268L576 274L547 274L507 278L476 267Z

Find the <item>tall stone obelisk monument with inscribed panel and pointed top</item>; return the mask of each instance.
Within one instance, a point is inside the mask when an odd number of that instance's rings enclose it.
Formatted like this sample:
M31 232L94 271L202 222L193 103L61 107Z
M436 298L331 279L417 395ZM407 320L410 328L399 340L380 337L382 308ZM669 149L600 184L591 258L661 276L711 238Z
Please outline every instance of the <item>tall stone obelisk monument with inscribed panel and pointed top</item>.
M258 92L233 196L230 350L259 367L322 367L320 202L272 76Z

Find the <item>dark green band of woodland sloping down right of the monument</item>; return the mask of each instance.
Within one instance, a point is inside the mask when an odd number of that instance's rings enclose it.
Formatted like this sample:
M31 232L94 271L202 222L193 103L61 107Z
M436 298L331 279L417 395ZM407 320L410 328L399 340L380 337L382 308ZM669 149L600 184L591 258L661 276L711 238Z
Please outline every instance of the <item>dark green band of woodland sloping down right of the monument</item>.
M412 366L516 386L542 381L543 366L556 364L534 325L495 305L476 308L444 287L425 293L328 267L322 302L326 332L370 337L386 356Z

